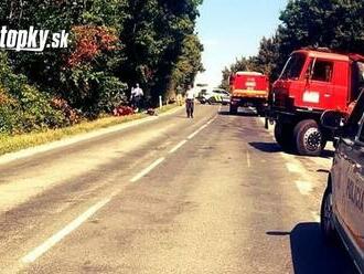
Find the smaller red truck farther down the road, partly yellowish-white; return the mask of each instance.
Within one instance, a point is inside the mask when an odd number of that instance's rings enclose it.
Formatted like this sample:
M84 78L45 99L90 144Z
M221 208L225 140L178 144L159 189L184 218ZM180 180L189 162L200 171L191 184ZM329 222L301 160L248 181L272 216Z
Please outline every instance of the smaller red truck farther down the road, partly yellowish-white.
M268 101L268 77L258 72L237 72L229 77L231 114L236 114L238 107L255 106L259 115L265 114Z

